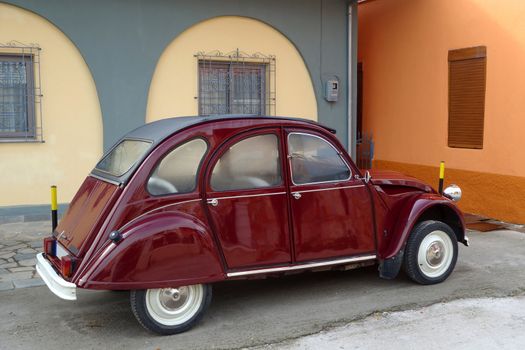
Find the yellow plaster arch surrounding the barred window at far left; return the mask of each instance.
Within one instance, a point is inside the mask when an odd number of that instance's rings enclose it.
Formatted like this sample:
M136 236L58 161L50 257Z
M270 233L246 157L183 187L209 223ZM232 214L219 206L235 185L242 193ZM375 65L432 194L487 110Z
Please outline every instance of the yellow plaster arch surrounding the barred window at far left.
M44 143L0 143L0 206L69 202L102 154L95 83L73 43L46 19L0 3L0 43L41 48ZM0 49L1 51L1 49Z

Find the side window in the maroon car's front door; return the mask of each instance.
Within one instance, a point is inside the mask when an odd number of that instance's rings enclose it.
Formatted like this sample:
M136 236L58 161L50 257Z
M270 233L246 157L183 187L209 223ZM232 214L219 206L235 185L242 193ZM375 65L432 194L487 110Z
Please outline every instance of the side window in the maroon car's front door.
M351 176L340 152L319 136L290 133L288 152L296 185L344 181Z

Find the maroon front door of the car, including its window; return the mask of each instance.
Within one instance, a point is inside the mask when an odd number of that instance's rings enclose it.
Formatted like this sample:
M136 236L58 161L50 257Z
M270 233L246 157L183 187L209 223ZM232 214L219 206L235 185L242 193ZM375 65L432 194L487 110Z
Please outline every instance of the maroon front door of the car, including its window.
M374 252L370 194L342 150L313 131L286 134L295 261Z

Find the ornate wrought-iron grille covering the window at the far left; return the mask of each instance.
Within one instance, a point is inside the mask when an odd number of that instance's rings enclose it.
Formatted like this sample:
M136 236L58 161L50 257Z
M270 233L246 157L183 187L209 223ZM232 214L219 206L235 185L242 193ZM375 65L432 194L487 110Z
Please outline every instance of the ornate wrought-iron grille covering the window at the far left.
M0 43L0 142L42 141L40 48Z

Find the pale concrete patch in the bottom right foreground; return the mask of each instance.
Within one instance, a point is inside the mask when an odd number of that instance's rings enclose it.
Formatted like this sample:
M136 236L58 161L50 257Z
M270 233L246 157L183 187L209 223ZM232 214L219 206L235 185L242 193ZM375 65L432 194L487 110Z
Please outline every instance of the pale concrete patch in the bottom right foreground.
M523 296L461 299L417 310L375 313L342 327L254 350L521 350L523 329Z

